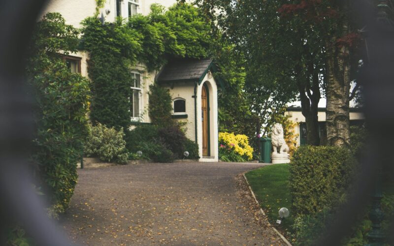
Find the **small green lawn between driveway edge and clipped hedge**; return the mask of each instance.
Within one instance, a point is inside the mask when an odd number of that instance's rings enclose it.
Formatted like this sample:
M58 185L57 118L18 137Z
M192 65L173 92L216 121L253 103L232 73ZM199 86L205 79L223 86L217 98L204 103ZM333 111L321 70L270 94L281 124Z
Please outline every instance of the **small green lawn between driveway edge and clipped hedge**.
M289 164L265 166L250 171L245 176L264 213L268 216L269 222L276 225L277 228L281 228L282 232L292 233L291 225L294 222L294 217L292 216L291 196L288 187L289 167ZM282 207L289 209L290 216L279 225L276 220L279 218L278 211ZM289 237L289 235L285 236Z

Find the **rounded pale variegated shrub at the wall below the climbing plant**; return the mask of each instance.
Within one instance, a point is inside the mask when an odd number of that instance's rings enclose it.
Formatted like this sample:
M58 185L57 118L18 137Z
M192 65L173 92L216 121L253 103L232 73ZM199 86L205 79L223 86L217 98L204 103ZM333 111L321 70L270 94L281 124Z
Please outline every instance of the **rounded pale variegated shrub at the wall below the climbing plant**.
M123 129L117 131L98 123L89 127L89 137L85 143L87 156L99 157L102 161L127 163L128 153Z

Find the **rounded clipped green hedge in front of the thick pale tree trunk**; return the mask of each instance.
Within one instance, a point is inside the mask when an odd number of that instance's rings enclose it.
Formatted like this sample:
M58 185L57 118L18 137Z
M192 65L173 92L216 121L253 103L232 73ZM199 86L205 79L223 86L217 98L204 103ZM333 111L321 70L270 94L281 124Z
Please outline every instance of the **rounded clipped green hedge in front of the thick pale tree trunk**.
M315 215L324 209L330 211L343 200L355 163L350 151L343 148L299 147L290 166L294 213Z

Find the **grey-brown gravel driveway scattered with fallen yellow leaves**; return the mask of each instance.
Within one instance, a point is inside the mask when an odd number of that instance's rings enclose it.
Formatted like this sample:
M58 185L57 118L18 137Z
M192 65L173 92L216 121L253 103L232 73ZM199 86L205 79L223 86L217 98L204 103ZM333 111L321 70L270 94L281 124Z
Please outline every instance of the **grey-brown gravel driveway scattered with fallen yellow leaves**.
M238 176L260 166L187 162L80 169L61 222L81 245L284 245Z

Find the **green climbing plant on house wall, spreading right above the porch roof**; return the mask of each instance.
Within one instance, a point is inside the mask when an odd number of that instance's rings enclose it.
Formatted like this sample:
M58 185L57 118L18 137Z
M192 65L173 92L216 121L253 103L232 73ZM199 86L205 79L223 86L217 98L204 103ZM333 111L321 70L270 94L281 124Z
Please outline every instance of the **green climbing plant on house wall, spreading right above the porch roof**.
M157 70L173 58L203 58L209 49L209 25L191 4L177 3L164 11L151 5L147 16L127 22L101 24L96 17L83 21L83 47L90 52L92 122L129 129L131 67L144 63Z

